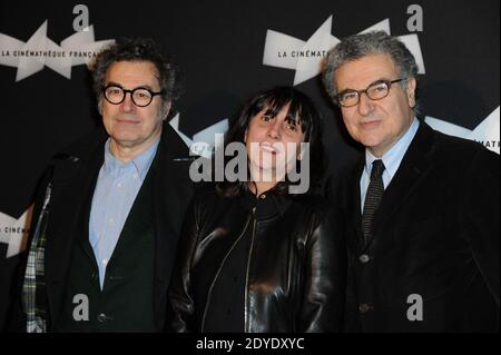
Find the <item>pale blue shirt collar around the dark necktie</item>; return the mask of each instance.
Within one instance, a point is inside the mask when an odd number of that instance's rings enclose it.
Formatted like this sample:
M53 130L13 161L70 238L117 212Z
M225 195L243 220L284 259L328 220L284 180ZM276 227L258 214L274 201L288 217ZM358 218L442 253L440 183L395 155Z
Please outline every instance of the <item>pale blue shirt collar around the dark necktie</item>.
M367 172L367 175L371 176L372 164L374 162L374 160L382 159L385 171L387 171L387 174L393 177L399 169L400 162L407 151L407 148L411 145L411 141L414 138L419 127L420 121L414 117L407 131L381 158L375 157L371 151L369 151L369 149L365 149L365 171Z

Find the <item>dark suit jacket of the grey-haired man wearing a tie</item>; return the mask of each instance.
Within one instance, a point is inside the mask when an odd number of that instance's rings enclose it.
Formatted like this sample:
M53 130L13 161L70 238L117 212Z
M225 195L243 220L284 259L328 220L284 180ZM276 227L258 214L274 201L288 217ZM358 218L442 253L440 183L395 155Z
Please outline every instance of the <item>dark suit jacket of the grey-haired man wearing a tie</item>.
M348 170L336 194L348 245L345 331L499 329L499 156L421 122L365 248L363 165Z

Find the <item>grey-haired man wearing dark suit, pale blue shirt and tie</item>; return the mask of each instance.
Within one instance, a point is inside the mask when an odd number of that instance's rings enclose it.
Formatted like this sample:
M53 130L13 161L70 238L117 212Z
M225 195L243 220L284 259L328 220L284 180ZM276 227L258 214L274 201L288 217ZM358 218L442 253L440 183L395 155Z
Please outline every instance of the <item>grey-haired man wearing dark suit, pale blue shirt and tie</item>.
M342 40L323 72L365 157L340 180L346 332L499 328L499 156L415 116L418 66L384 32Z

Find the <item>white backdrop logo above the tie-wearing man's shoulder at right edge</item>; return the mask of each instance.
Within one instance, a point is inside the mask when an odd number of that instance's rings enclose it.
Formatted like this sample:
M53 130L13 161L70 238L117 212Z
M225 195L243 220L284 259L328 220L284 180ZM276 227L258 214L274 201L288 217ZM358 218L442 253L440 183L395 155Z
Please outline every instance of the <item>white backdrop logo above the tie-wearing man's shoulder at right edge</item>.
M488 149L500 154L499 106L472 130L429 116L425 117L425 121L433 127L433 129L440 130L443 134L475 140L481 142Z

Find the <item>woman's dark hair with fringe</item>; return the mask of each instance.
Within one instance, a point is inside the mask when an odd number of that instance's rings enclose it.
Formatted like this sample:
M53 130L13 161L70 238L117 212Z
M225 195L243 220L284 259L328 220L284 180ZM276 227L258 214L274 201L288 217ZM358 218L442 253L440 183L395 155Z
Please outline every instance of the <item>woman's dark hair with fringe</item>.
M304 132L304 141L310 144L310 189L307 194L314 194L322 185L322 179L326 170L326 156L322 140L322 117L313 103L312 99L303 92L292 87L275 87L264 90L250 98L239 111L227 134L225 135L224 148L232 142L245 144L245 132L250 120L268 107L268 114L272 117L278 115L283 107L288 107L287 117L297 117L297 124ZM226 162L232 157L225 156ZM301 160L296 161L301 168ZM239 196L248 190L248 181L222 181L216 185L216 189L222 196ZM286 194L292 183L285 178L284 181L273 188L278 194Z

